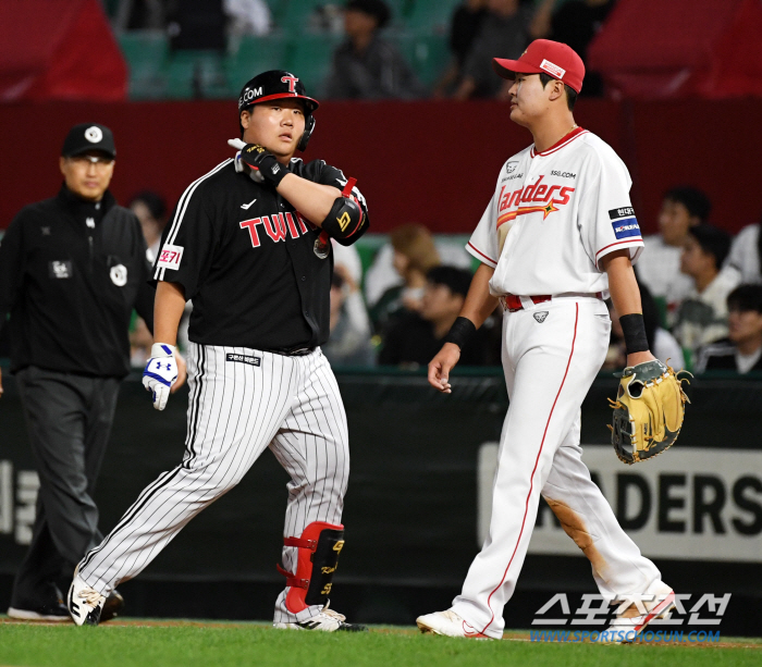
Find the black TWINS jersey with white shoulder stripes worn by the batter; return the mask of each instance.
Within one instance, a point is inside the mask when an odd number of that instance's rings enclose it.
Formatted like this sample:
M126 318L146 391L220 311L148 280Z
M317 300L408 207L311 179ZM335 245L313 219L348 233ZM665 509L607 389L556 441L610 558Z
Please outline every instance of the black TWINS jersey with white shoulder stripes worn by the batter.
M292 160L291 171L342 190L344 174L322 160ZM357 188L353 197L368 228ZM192 183L161 239L153 279L179 283L193 299L188 337L201 345L271 351L328 341L331 240L270 184L236 173L225 160Z

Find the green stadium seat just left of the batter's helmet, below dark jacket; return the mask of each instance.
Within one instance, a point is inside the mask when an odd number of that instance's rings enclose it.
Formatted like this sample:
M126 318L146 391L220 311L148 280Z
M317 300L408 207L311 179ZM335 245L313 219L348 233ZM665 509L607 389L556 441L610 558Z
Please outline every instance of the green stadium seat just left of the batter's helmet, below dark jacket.
M222 57L216 51L175 51L170 55L167 77L169 98L230 97Z

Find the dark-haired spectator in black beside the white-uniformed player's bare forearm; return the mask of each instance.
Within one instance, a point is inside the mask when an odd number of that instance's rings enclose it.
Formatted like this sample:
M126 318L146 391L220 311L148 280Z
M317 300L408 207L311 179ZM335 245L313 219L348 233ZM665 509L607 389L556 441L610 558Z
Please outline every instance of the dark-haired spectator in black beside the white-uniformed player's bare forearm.
M386 336L379 363L427 366L442 347L442 338L455 322L471 284L470 271L434 267L427 273L419 312L400 318ZM481 329L460 351L460 365L483 366L487 345Z

